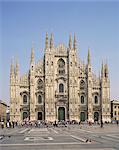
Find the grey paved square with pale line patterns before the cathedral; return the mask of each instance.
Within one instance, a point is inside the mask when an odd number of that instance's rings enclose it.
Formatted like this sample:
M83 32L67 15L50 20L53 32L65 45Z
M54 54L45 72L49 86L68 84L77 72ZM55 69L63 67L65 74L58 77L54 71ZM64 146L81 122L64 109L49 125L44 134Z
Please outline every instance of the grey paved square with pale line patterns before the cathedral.
M119 150L119 127L69 125L0 129L1 150Z

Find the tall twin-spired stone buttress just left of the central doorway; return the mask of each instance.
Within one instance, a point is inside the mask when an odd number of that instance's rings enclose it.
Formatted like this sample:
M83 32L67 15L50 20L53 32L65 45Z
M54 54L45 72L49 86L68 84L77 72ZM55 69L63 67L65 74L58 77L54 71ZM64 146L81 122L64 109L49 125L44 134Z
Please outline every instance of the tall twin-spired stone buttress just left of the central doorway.
M50 44L48 44L50 43ZM53 34L51 34L50 42L48 42L48 34L46 33L45 41L45 120L56 120L55 99L54 99L54 42Z

